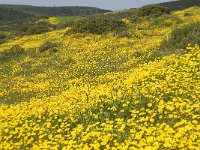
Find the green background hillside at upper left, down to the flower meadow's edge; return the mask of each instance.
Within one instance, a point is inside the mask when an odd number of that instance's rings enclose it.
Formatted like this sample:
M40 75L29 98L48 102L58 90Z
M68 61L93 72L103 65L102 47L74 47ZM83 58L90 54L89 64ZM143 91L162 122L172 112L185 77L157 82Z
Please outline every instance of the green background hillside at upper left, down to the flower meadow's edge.
M93 7L0 5L0 44L15 37L62 29L75 20L104 12L110 11ZM58 21L54 20L58 23L49 21L51 16L57 17Z

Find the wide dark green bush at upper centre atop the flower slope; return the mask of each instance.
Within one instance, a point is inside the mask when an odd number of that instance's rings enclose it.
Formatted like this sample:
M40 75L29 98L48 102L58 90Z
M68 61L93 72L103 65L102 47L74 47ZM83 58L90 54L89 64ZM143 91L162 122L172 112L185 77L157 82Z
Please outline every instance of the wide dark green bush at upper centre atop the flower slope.
M74 23L70 33L104 34L108 32L119 32L125 29L126 24L123 21L104 18L87 18Z

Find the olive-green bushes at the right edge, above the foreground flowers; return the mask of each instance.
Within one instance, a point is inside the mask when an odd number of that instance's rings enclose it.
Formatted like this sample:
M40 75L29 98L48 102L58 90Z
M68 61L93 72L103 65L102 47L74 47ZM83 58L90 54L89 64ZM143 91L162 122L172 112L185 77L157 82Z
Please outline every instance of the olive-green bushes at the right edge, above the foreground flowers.
M174 29L170 35L163 40L153 56L163 57L172 53L182 54L188 44L200 45L200 22L191 23L181 28Z

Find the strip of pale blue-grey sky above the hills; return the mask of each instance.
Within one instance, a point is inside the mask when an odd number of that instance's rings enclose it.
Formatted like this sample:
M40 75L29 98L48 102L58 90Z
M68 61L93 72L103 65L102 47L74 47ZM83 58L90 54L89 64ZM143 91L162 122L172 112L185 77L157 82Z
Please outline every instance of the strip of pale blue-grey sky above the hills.
M23 4L34 6L92 6L109 10L121 10L169 1L173 0L0 0L0 4Z

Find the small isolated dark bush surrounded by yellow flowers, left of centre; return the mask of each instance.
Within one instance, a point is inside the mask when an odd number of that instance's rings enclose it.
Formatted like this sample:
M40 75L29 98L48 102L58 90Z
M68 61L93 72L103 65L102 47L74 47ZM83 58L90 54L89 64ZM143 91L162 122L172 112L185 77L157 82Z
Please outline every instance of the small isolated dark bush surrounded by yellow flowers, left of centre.
M39 47L39 51L40 52L49 51L50 53L55 53L58 51L58 46L59 43L47 41Z

